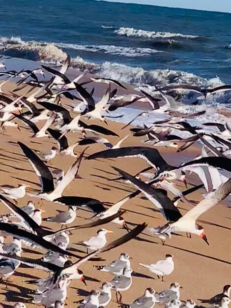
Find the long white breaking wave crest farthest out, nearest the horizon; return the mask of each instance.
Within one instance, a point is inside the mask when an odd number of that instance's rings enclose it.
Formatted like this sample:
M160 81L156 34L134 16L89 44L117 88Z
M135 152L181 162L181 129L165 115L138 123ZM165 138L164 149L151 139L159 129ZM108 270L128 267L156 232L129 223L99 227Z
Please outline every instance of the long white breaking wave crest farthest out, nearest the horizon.
M197 38L198 35L187 35L181 33L171 33L171 32L160 32L160 31L145 31L137 30L134 28L125 28L120 27L118 30L114 31L118 35L133 36L133 37L144 37L144 38L172 38L172 37L181 37L181 38Z

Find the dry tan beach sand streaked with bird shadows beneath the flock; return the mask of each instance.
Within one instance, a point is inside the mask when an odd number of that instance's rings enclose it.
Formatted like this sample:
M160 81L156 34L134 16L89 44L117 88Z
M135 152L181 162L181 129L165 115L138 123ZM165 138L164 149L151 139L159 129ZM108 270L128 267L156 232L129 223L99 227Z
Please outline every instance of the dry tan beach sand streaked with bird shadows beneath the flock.
M90 123L98 123L96 121L89 121ZM42 123L40 123L41 125ZM129 127L121 130L123 124L109 122L109 125L102 124L109 129L116 131L120 137L129 133ZM35 151L50 150L52 145L56 145L55 141L50 138L31 138L31 132L20 123L21 131L16 128L7 128L7 132L1 134L0 144L0 185L18 185L25 183L30 185L28 193L39 189L39 181L35 175L29 161L22 153L17 145L17 141L21 141ZM69 133L67 135L68 141L71 144L80 137L78 133ZM110 142L115 143L118 138L108 138ZM124 146L142 145L142 138L129 137L123 143ZM76 153L80 153L85 147L76 147ZM91 153L104 150L103 145L91 145L85 156ZM183 153L177 153L172 149L158 148L161 154L166 158L169 163L179 164L182 161L192 159L196 154L199 154L199 148L190 148ZM74 162L73 157L69 156L56 156L52 160L50 168L58 167L63 168L65 171ZM110 160L84 160L80 167L79 174L83 179L74 180L65 190L63 195L85 196L99 199L103 202L115 203L128 195L134 188L131 185L123 183L108 181L109 178L116 176L115 171L111 166L117 166L122 170L131 174L136 174L147 166L146 162L139 158L123 158L123 159L110 159ZM192 181L196 181L192 179ZM190 181L189 181L190 182ZM197 182L197 181L196 181ZM195 182L195 183L196 183ZM177 185L181 185L177 183ZM184 189L182 187L182 189ZM199 192L190 195L190 200L202 199L201 189ZM171 194L169 194L171 196ZM37 205L39 200L26 196L19 199L20 206L25 205L29 200L32 200ZM192 208L187 203L179 203L178 205L182 214ZM57 214L56 210L66 210L66 206L58 205L55 203L45 202L43 209L47 212L43 217L54 216ZM148 226L158 226L164 224L166 221L163 216L154 210L154 206L148 200L141 198L141 195L133 200L127 202L123 209L126 210L124 218L130 228L134 224L147 222ZM0 214L7 214L8 210L1 204ZM85 223L91 213L83 210L77 211L77 218L72 225ZM93 265L106 264L115 260L121 252L127 252L133 259L131 266L135 276L133 276L133 284L130 290L122 292L122 302L131 303L137 297L144 293L146 287L152 287L157 292L168 288L172 282L178 282L183 289L181 289L182 300L192 299L197 302L197 298L208 298L216 293L222 291L225 284L231 283L231 213L227 204L221 203L210 211L206 212L200 217L198 221L204 225L205 233L210 243L207 246L200 237L192 235L189 239L185 234L180 236L173 236L172 240L168 240L165 246L162 246L160 241L147 234L146 230L137 238L130 241L123 246L117 247L114 250L103 253L101 256L105 261L103 262L87 262L80 267L87 277L92 277L93 280L87 280L87 287L81 282L74 280L68 288L68 296L65 301L67 307L78 307L78 304L73 304L83 298L83 295L91 289L98 288L105 281L110 281L113 276L108 273L97 271ZM53 222L43 222L42 226L48 226L54 230L59 229L59 225ZM108 240L112 241L126 233L114 223L107 226L108 229L113 230L113 234L108 235ZM75 245L76 242L86 240L87 238L95 235L99 228L91 228L85 230L78 230L70 237L71 242L69 247L82 250L83 248ZM41 258L45 251L41 249L28 249L23 246L23 256L31 258ZM164 278L161 282L157 277L148 272L148 270L139 266L139 263L155 263L158 260L164 259L165 254L170 253L174 255L175 270L170 276ZM74 261L75 259L72 258ZM3 307L14 305L14 302L25 302L31 298L30 290L34 289L33 284L27 282L39 277L45 277L42 270L31 269L25 266L20 266L13 276L10 277L8 288L4 284L0 284L0 303ZM28 303L27 307L34 307L33 304ZM118 307L115 302L115 292L113 292L112 302L108 308Z

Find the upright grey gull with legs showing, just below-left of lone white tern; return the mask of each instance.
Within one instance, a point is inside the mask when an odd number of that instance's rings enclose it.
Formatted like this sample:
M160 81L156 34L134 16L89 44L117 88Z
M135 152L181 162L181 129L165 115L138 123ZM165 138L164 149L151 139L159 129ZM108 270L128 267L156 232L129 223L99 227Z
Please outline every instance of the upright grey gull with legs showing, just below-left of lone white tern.
M121 303L122 295L120 291L128 290L132 285L132 269L125 267L123 269L123 274L119 276L115 276L114 279L111 281L113 285L113 289L115 290L116 294L116 301L117 303ZM118 298L119 295L119 298Z

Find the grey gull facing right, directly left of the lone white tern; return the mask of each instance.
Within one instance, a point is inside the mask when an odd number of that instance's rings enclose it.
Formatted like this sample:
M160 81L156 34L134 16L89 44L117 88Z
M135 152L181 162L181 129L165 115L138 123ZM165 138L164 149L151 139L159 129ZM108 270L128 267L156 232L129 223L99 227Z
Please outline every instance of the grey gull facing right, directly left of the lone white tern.
M130 268L130 256L126 252L122 252L119 258L108 265L96 265L97 270L108 272L114 275L122 275L125 267Z

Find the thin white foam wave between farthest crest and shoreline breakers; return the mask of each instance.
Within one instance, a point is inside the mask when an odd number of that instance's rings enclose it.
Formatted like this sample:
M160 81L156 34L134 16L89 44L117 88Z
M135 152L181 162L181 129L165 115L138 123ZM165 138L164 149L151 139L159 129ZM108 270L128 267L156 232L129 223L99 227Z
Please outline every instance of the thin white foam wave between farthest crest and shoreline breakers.
M123 57L144 57L150 54L162 52L152 48L124 47L115 45L77 45L77 44L57 43L56 46L65 49L74 49L92 53L104 53L104 54L111 54Z

